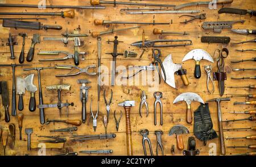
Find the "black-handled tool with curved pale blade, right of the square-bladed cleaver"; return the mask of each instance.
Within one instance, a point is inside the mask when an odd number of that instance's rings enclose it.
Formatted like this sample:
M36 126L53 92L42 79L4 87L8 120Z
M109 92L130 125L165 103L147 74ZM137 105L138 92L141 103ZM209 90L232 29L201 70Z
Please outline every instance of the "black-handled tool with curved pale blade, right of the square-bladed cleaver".
M36 109L36 100L35 100L35 92L38 88L33 84L34 74L30 74L25 78L25 88L28 92L30 92L30 104L28 105L28 109L31 112L34 112Z

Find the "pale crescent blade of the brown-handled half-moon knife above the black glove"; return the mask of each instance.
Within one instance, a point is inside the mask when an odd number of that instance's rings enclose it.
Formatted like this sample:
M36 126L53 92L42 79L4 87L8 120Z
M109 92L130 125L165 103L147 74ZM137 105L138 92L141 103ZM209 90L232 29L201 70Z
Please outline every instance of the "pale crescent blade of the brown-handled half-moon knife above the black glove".
M185 101L188 105L190 105L192 101L198 101L204 104L204 100L201 99L199 95L193 92L181 93L174 99L174 104L179 101Z

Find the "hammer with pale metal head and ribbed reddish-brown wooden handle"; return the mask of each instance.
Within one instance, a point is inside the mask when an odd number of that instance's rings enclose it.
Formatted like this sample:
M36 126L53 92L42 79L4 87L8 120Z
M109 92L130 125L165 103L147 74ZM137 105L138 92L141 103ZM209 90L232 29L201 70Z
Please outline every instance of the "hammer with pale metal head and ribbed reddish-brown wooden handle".
M131 120L130 120L130 111L131 107L135 106L134 100L126 100L118 104L118 106L123 106L125 109L125 118L126 118L126 146L127 146L127 155L133 155L133 144L131 143Z

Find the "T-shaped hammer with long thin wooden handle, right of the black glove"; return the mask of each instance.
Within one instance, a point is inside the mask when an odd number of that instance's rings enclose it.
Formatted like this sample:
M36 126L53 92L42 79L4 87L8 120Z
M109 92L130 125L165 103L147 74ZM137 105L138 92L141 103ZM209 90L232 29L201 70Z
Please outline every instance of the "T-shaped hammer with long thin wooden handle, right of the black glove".
M223 132L223 127L222 127L222 114L221 114L221 101L230 101L229 97L226 98L217 98L217 99L212 99L212 100L207 100L207 102L215 101L217 102L217 110L218 110L218 129L219 129L219 135L220 135L220 147L221 147L221 155L226 154L226 149L225 149L225 140L224 140L224 132Z

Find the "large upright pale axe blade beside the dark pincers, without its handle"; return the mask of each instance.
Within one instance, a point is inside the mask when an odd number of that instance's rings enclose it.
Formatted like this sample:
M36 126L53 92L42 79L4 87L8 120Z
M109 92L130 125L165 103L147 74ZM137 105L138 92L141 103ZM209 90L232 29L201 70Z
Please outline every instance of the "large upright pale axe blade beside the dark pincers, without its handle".
M174 62L172 62L172 55L169 54L166 58L164 58L163 66L164 70L166 70L166 83L171 87L176 88L174 73L182 68L181 64L175 64ZM163 70L162 76L164 79Z

